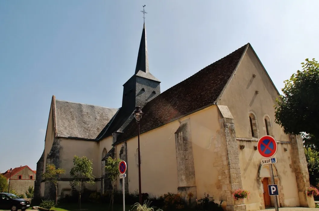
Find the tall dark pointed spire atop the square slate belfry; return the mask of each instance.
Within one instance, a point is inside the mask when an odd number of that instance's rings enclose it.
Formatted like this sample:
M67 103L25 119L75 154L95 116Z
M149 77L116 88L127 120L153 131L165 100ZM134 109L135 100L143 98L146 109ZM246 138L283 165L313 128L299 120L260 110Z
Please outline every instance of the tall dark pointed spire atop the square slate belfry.
M135 74L137 74L138 71L149 73L145 23L143 25L140 47L138 49Z

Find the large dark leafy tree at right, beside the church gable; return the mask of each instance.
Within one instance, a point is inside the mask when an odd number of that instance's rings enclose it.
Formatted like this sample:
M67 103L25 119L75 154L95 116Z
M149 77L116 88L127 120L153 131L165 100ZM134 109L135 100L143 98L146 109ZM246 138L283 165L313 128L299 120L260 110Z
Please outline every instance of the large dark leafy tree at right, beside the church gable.
M275 122L285 133L295 135L305 132L319 139L319 64L315 59L306 59L302 70L284 81L283 95L277 99ZM306 142L309 139L306 139ZM306 143L307 144L307 143Z

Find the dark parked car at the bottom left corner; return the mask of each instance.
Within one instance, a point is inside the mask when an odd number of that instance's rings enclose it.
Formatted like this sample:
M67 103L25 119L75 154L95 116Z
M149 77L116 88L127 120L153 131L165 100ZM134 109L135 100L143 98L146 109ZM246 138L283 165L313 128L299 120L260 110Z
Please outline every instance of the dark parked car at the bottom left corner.
M12 193L0 193L0 209L16 211L26 210L28 207L30 207L30 201L20 199Z

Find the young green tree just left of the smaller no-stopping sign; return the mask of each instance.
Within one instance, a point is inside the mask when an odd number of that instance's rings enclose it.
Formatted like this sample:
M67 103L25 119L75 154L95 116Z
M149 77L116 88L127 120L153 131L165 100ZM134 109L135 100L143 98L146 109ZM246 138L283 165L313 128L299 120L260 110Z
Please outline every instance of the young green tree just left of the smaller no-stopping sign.
M112 210L113 210L113 202L114 202L114 199L113 199L114 184L115 184L115 180L120 175L120 172L119 172L120 162L121 162L120 159L116 159L116 158L113 159L111 157L108 157L105 161L105 171L108 173L108 178L113 182L112 195L111 195L110 205L108 207L108 209L110 209L110 206L112 204Z

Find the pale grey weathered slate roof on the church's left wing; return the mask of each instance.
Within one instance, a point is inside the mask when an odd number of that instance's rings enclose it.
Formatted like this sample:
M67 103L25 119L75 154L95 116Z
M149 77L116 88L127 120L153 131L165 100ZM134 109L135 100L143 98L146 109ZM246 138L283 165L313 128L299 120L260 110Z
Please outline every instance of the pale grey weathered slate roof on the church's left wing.
M56 100L58 137L95 139L118 109Z

